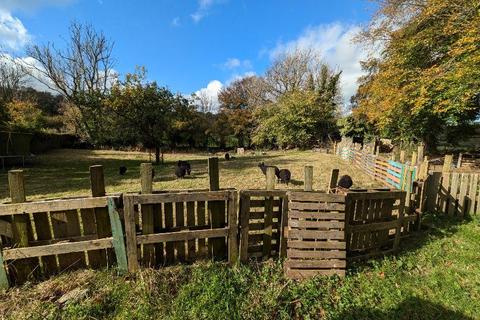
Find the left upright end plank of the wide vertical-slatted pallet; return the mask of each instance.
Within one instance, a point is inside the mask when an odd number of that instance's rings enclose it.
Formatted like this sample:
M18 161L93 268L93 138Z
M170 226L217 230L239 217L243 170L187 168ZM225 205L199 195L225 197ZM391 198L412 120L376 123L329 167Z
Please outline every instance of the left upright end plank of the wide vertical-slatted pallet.
M123 208L125 215L125 238L127 243L127 262L128 271L136 272L138 270L137 258L137 233L135 230L135 208L133 196L123 196Z

